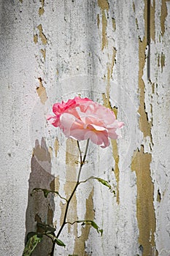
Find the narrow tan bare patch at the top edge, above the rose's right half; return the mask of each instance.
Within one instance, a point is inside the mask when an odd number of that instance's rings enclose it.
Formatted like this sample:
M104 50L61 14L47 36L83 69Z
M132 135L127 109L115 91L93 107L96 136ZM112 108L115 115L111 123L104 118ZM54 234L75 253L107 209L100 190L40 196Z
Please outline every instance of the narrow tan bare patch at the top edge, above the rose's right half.
M105 14L105 10L109 11L109 3L107 0L98 0L98 7L101 8L102 12L102 45L101 50L107 46L107 17Z

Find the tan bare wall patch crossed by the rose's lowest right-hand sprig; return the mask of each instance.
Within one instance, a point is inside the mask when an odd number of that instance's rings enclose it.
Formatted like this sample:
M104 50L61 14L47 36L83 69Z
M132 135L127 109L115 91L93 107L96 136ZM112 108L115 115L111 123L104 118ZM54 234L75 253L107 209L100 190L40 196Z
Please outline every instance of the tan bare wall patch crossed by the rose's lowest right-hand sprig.
M93 192L94 189L90 192L88 199L86 199L86 213L85 219L93 220L94 219L94 210L93 210ZM81 224L79 224L81 225ZM93 227L91 227L93 228ZM88 240L89 232L90 232L90 225L85 225L85 227L81 228L82 235L80 237L75 238L74 243L74 255L84 255L88 256L85 253L85 241Z

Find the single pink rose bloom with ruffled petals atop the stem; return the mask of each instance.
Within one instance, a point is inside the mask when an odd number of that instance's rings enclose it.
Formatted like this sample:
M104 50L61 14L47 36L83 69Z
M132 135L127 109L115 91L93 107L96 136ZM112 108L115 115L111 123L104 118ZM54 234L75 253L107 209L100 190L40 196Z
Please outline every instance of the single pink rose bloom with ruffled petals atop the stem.
M109 138L117 139L124 125L116 120L112 110L88 98L75 97L66 103L55 103L53 113L55 116L47 119L52 119L52 124L60 127L67 138L89 138L101 148L109 146Z

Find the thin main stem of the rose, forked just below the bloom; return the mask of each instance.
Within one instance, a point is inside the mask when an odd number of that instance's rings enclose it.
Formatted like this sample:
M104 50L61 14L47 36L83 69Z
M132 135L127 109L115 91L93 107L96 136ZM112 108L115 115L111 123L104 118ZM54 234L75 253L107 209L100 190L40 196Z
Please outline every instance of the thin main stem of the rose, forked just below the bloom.
M64 217L63 217L63 223L61 225L61 228L60 230L58 231L58 234L56 236L56 238L58 238L58 236L60 236L61 234L61 231L63 230L63 227L64 225L66 225L66 217L67 217L67 214L68 214L68 210L69 210L69 203L70 201L72 200L72 197L74 195L74 192L76 191L77 187L79 186L80 184L80 174L81 174L81 170L82 170L82 165L85 164L85 158L87 156L87 152L88 152L88 144L89 144L89 139L87 141L87 144L86 144L86 148L85 148L85 154L84 154L84 157L82 159L82 152L80 150L80 144L79 144L79 141L77 140L77 145L78 145L78 149L79 149L79 152L80 152L80 169L79 169L79 173L78 173L78 176L77 176L77 182L76 182L76 185L72 191L72 194L70 195L69 199L67 200L66 202L66 210L65 210L65 214L64 214Z

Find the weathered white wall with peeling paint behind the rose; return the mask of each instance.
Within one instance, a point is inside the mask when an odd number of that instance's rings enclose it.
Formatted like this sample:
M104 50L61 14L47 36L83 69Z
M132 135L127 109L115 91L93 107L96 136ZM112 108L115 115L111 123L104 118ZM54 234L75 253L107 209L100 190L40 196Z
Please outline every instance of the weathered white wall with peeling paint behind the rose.
M82 184L69 220L93 219L103 236L68 225L55 255L170 255L170 1L2 0L0 19L0 255L22 255L36 222L61 225L64 202L30 193L74 187L76 143L46 117L79 94L125 121L109 148L90 144L81 176L107 179L116 195Z

